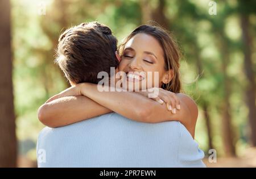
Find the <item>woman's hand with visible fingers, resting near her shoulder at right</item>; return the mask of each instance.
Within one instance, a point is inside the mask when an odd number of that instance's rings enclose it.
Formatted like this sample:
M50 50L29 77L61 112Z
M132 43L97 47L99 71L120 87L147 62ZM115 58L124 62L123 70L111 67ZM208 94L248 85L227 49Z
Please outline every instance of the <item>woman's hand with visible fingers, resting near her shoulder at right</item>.
M154 91L154 94L152 94ZM138 91L137 93L144 95L145 97L151 98L161 105L166 103L166 107L172 114L176 114L176 109L180 110L180 100L177 98L175 93L164 90L162 88L152 88L147 91Z

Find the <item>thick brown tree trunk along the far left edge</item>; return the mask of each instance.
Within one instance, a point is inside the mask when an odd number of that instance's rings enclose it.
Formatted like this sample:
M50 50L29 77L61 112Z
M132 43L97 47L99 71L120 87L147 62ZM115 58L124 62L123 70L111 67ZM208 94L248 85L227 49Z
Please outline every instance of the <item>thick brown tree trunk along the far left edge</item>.
M17 158L13 104L10 1L0 1L0 167L15 167Z

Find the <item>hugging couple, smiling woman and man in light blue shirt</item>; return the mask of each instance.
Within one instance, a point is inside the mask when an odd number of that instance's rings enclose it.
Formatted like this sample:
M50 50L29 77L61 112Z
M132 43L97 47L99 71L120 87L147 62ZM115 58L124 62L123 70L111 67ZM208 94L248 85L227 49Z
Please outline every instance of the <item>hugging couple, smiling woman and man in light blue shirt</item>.
M104 24L64 31L56 63L71 87L38 110L48 126L38 137L38 166L205 167L194 140L198 109L180 93L179 60L176 42L158 26L135 28L119 47ZM119 90L99 85L102 72L114 75Z

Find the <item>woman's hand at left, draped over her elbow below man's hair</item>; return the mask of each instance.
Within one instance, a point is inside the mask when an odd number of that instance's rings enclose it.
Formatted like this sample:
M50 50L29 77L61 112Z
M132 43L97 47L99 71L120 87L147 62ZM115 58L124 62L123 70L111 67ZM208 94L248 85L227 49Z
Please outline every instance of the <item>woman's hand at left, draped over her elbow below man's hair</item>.
M49 98L46 101L46 103L62 97L82 95L82 86L84 86L83 83L71 86L70 88L65 89L64 91L61 91L59 94L53 95L53 97Z

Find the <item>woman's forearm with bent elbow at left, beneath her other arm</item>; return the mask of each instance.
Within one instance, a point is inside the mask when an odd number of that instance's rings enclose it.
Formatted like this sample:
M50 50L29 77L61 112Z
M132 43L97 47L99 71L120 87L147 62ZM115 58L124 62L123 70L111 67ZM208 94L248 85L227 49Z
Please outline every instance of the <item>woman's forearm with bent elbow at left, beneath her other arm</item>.
M92 99L77 95L44 103L38 110L38 119L48 127L61 127L111 112Z

